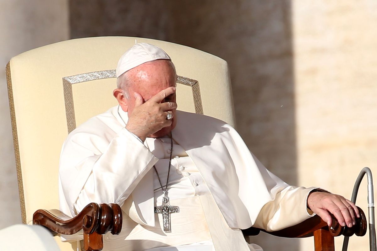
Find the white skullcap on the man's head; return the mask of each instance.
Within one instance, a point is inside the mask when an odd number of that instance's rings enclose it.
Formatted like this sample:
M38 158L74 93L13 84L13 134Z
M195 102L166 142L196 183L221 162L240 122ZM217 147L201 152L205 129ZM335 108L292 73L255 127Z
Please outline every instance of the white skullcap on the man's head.
M135 44L120 57L115 71L116 78L138 65L156 59L172 60L160 47L147 43Z

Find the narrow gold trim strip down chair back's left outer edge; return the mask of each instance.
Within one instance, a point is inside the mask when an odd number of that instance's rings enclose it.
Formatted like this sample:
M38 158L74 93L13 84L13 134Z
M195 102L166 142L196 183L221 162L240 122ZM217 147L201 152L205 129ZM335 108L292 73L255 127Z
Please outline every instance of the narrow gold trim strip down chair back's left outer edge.
M23 224L26 224L25 195L24 195L24 192L23 192L21 160L20 160L20 146L18 145L17 123L16 123L16 114L15 114L15 111L14 111L14 99L13 99L11 64L10 64L10 62L8 62L8 64L6 64L5 73L6 73L6 82L7 82L7 86L8 86L9 110L11 112L14 157L15 157L15 160L16 160L17 181L18 181L18 195L20 196L21 220L22 220Z

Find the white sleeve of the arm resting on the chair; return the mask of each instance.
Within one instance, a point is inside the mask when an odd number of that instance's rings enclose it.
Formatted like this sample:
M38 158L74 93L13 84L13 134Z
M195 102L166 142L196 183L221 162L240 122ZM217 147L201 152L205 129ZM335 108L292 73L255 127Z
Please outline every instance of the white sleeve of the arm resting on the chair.
M259 212L253 227L277 231L299 224L315 214L307 209L307 198L316 187L288 186L276 193Z

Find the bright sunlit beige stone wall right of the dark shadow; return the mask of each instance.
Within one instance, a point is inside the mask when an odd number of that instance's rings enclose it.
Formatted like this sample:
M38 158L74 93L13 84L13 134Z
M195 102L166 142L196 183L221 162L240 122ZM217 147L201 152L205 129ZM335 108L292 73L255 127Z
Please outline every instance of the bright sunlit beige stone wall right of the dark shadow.
M299 183L350 198L364 166L377 175L377 2L296 0L292 13ZM348 250L369 250L368 233Z

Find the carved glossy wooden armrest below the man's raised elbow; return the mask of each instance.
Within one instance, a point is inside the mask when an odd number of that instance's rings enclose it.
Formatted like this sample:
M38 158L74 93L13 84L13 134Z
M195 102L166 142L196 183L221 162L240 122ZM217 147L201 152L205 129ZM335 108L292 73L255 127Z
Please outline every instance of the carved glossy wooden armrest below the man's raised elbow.
M37 210L33 214L33 224L48 228L52 234L72 235L84 232L84 249L101 250L102 235L111 231L119 234L122 229L122 211L118 204L90 203L70 218L59 210Z

